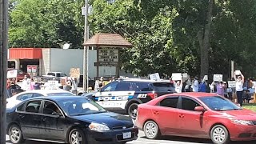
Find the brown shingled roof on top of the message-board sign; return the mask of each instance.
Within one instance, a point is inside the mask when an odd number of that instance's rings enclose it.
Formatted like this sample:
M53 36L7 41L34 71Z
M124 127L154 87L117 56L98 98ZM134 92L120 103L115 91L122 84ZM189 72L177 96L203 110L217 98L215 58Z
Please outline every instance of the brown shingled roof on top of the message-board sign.
M122 38L120 34L95 34L92 38L83 43L83 46L96 47L132 47L133 45Z

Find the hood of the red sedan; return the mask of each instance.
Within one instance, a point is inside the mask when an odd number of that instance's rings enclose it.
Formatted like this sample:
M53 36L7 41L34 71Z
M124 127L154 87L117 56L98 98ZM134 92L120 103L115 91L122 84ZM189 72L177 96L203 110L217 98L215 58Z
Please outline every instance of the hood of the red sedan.
M246 109L229 110L229 111L222 111L222 114L227 117L238 119L238 120L256 121L256 112L251 110L246 110Z

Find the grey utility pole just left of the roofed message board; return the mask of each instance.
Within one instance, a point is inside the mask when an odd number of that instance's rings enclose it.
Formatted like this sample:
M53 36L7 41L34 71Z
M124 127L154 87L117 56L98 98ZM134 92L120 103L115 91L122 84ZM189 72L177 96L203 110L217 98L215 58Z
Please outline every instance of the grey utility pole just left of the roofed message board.
M88 33L88 0L85 0L85 27L84 27L84 42L89 38ZM83 50L83 90L88 90L88 46L84 46Z

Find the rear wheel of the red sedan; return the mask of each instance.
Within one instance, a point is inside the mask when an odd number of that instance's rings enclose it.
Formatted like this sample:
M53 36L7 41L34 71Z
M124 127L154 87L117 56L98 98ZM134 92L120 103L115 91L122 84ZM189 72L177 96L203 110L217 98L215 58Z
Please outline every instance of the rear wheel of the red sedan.
M143 126L144 134L148 139L157 139L160 135L158 124L154 121L148 121Z

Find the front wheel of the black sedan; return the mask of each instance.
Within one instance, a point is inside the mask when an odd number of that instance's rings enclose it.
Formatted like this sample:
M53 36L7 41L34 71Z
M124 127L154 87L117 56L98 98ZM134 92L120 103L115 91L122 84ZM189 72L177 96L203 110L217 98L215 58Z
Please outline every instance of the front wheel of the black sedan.
M83 134L82 130L73 129L69 134L69 142L70 144L85 144L86 136Z

